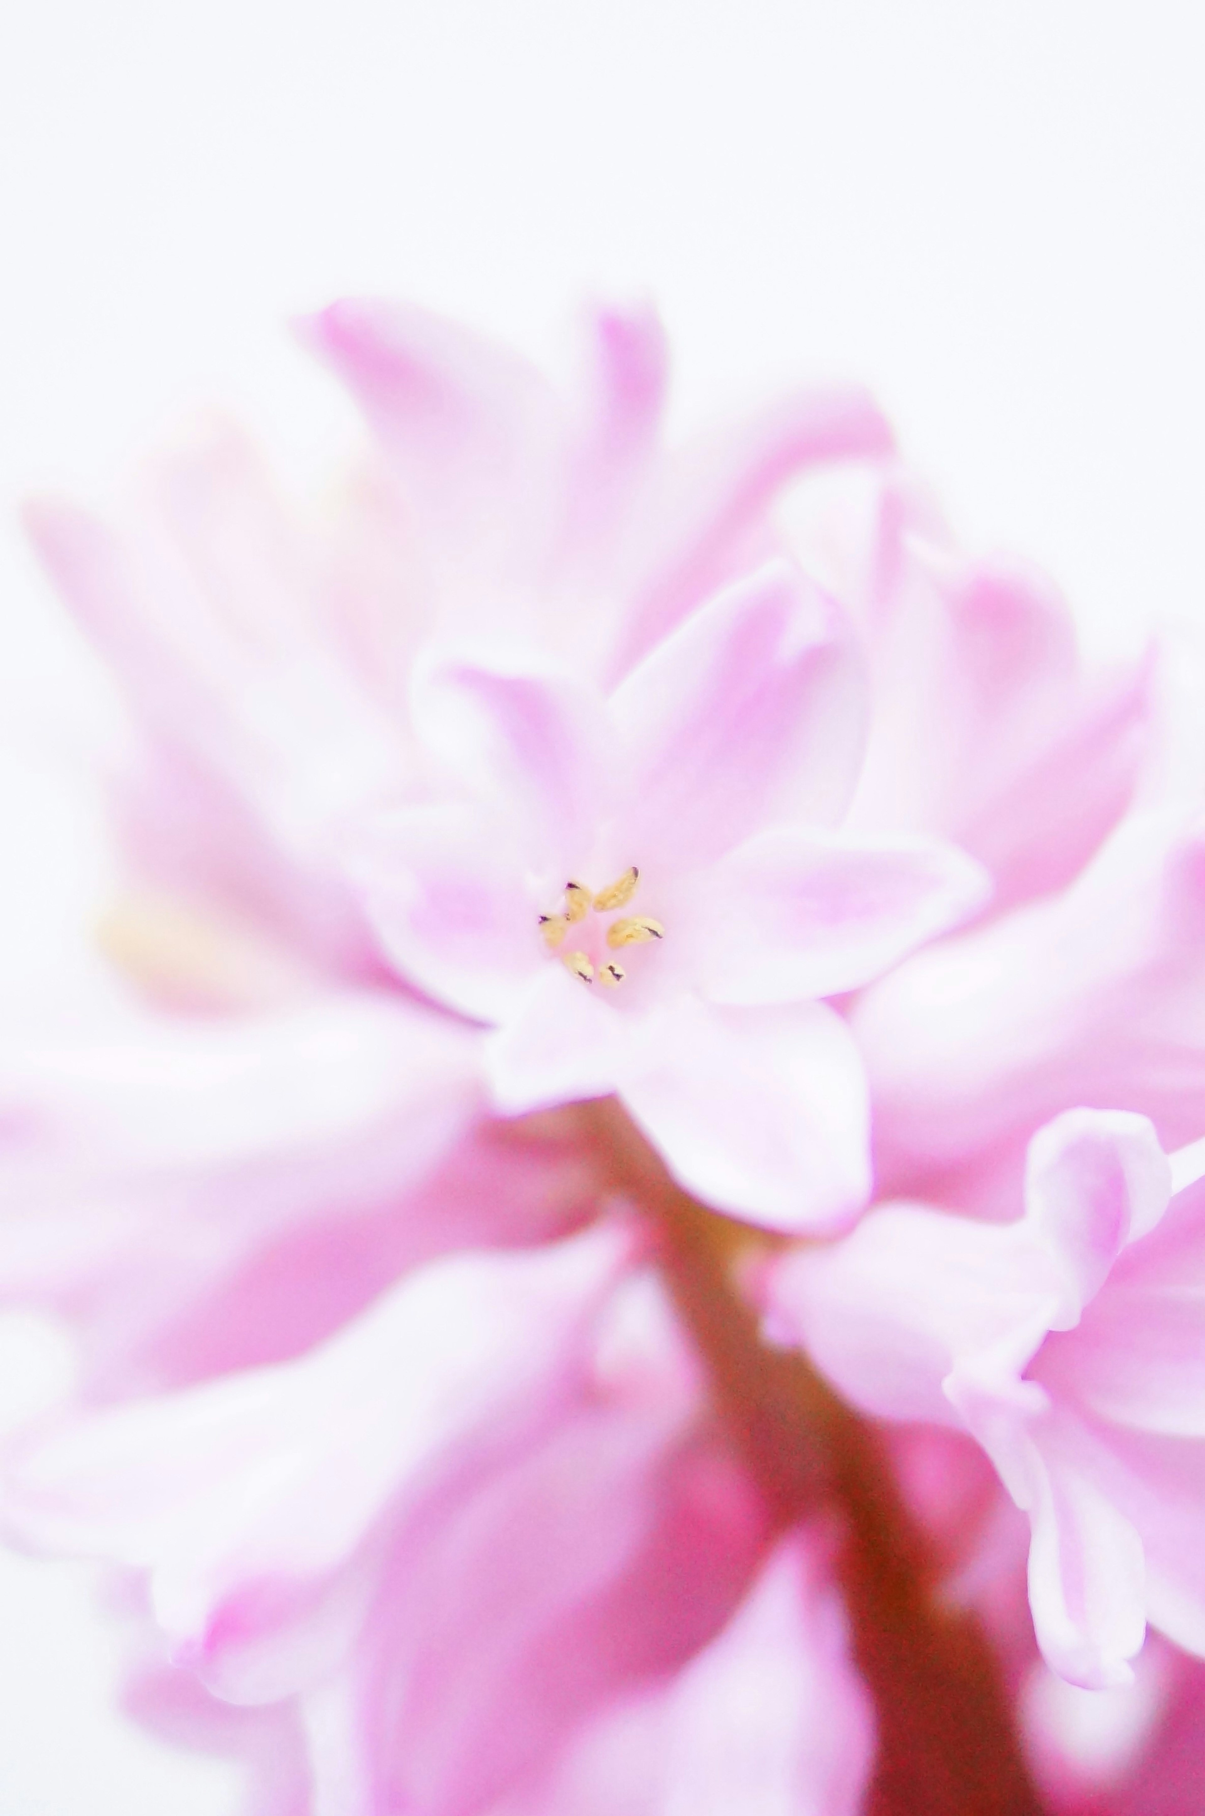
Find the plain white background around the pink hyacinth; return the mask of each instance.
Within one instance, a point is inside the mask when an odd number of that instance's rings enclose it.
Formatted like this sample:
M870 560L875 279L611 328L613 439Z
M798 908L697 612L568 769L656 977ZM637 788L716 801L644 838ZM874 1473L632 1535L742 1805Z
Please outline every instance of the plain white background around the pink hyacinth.
M85 692L18 496L103 492L211 400L312 476L348 416L285 323L348 291L537 354L584 294L651 294L682 419L867 380L1094 643L1205 616L1192 0L5 0L0 31L5 801ZM64 837L25 824L16 897ZM42 1351L0 1337L16 1404ZM105 1714L85 1609L0 1560L0 1816L229 1812L220 1765Z

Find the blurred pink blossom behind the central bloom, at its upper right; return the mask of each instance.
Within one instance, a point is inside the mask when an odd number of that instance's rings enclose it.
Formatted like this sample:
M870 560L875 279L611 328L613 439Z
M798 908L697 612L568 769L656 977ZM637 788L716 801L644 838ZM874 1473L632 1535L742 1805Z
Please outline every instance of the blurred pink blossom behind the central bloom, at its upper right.
M818 474L800 503L800 559L849 608L869 663L849 824L955 839L991 872L993 915L1071 883L1140 786L1152 657L1085 661L1054 585L965 554L898 467Z

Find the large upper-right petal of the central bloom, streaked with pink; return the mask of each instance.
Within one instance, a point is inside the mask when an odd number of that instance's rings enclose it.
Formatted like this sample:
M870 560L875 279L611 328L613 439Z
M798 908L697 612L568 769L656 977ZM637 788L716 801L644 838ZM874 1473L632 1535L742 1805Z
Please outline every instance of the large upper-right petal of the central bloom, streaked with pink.
M788 563L681 625L612 696L632 863L693 870L779 819L840 814L862 746L858 657Z

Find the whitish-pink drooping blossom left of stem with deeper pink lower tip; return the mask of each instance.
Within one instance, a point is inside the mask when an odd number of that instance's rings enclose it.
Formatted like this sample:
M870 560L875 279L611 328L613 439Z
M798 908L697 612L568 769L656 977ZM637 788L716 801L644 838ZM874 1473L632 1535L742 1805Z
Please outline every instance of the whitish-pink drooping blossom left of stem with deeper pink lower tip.
M38 1545L149 1569L160 1625L220 1694L289 1694L348 1643L356 1560L385 1509L416 1505L434 1471L505 1458L572 1391L630 1249L599 1226L430 1262L299 1362L27 1444L11 1520Z

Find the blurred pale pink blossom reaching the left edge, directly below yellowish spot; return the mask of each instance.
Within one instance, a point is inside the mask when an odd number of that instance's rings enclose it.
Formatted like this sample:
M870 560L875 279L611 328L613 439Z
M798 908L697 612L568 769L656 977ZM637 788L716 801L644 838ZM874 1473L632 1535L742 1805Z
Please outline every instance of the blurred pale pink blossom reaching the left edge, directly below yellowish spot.
M113 1398L296 1355L408 1268L597 1209L572 1130L485 1115L472 1031L401 995L107 1004L0 1042L0 1293Z

